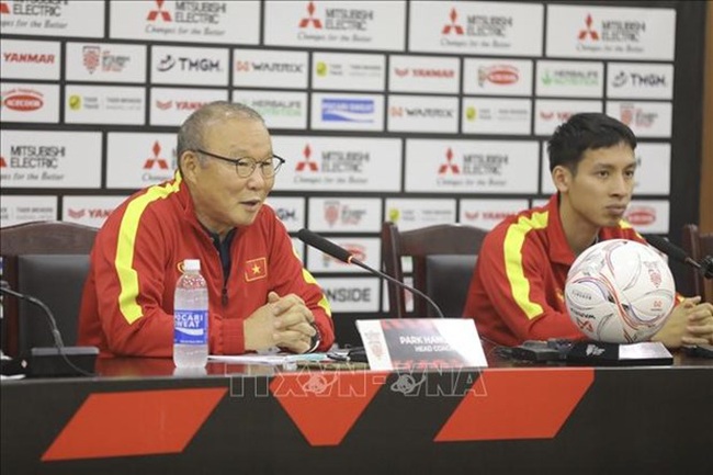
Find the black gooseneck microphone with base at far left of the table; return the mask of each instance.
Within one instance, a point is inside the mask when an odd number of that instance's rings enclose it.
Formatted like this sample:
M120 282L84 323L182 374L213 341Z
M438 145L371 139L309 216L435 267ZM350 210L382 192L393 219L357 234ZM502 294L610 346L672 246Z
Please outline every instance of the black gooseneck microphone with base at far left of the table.
M22 301L29 302L32 305L35 305L42 309L43 314L47 318L47 321L49 324L49 331L52 332L52 337L55 342L55 348L57 349L57 352L55 354L59 354L61 359L65 361L65 363L71 367L77 374L81 374L83 376L94 376L93 373L84 371L83 369L79 367L75 363L71 362L71 360L68 357L68 353L72 357L82 357L87 355L89 359L92 361L93 365L93 360L97 358L97 348L94 347L71 347L67 348L65 347L65 342L61 339L61 333L59 332L59 327L57 327L57 320L55 319L55 316L52 314L52 310L49 307L42 302L39 298L33 297L32 295L26 295L16 291L13 291L10 289L10 284L8 281L0 280L0 293L12 295L13 297L20 298ZM52 352L47 352L47 349L42 349L42 348L33 348L32 349L32 357L34 358L35 361L43 361L38 363L37 365L39 367L33 370L34 373L39 374L48 374L48 375L54 375L52 373L57 373L57 375L63 375L66 372L61 370L57 370L48 359L52 359L53 354ZM32 364L31 364L32 369Z

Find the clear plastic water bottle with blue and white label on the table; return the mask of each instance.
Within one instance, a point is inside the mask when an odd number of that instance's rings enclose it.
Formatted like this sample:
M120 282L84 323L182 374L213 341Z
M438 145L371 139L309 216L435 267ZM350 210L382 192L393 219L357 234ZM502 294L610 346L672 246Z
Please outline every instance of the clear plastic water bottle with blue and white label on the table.
M185 259L173 296L173 363L204 367L208 361L208 287L201 261Z

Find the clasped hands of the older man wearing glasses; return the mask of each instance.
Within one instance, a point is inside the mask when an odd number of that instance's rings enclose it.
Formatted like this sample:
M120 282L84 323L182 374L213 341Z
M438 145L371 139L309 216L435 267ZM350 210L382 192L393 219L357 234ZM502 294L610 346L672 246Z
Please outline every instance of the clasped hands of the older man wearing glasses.
M245 349L265 350L280 347L304 353L312 347L315 317L305 302L295 294L281 297L268 294L268 303L245 320Z

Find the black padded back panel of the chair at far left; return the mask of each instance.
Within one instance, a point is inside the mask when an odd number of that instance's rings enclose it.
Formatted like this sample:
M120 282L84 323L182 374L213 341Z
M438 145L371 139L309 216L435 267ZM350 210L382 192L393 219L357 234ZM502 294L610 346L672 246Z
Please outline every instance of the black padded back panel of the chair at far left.
M18 256L18 292L47 305L66 346L77 342L79 304L88 272L89 255ZM47 317L36 305L20 303L19 327L20 354L54 346Z

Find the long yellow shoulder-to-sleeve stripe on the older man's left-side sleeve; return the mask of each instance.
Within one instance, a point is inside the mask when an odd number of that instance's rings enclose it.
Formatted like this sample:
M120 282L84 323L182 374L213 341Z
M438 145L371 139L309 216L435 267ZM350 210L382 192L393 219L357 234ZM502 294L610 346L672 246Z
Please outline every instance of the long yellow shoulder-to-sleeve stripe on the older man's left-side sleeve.
M116 259L114 267L118 274L121 292L118 294L118 308L133 324L143 316L142 307L137 303L138 297L138 274L134 269L134 250L136 246L136 234L138 224L146 207L157 201L168 197L179 191L181 177L177 173L176 180L165 184L149 188L145 194L133 200L126 207L118 228L118 241L116 244Z

